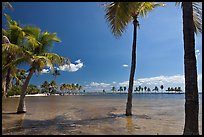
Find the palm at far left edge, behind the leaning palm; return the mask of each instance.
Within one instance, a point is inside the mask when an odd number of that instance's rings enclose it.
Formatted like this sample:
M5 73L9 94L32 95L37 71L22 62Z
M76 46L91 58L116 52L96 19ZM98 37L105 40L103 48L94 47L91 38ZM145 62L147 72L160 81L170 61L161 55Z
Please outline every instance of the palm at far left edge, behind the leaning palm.
M30 32L27 31L28 26L20 27L10 16L7 14L4 15L8 25L6 29L2 28L2 68L22 56L22 49L18 46L22 46L23 40L30 34ZM5 71L2 71L2 86L5 94L10 87L12 77L14 77L16 73L17 69L15 66L7 67Z

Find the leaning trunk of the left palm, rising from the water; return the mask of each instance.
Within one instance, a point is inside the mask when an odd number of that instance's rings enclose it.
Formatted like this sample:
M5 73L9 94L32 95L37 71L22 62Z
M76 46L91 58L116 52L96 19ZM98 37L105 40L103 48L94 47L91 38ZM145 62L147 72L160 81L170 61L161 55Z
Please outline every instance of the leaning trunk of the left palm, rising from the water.
M18 105L18 109L17 109L17 114L26 113L25 95L26 95L26 90L27 90L29 81L30 81L34 71L35 70L33 68L30 69L30 72L29 72L28 76L26 77L26 80L25 80L25 82L24 82L24 84L22 86L22 93L21 93L21 96L20 96L20 101L19 101L19 105Z

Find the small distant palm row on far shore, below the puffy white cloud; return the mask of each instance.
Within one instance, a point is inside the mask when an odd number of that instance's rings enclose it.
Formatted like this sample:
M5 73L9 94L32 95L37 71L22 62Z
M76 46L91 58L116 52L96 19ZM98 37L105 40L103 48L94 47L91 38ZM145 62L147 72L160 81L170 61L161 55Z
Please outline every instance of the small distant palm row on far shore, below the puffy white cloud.
M61 84L60 85L60 90L61 91L80 91L80 90L82 90L82 86L81 85L79 85L78 83L77 84L74 84L74 83L72 83L72 84L65 84L65 83L63 83L63 84Z

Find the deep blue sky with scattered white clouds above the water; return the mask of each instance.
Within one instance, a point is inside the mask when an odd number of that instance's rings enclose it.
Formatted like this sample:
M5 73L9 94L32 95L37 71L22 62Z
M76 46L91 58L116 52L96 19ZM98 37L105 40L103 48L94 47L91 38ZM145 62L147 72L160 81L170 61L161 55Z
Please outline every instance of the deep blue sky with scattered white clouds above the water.
M99 2L13 2L6 10L23 25L35 25L42 31L56 32L62 40L52 52L68 57L71 68L60 67L58 85L79 83L87 91L110 90L127 86L131 64L133 25L116 39L105 20ZM139 18L135 85L148 87L184 86L184 49L182 11L166 2L145 18ZM2 18L3 23L5 19ZM196 36L199 91L202 91L202 35ZM45 70L44 72L46 72ZM34 75L30 81L40 85L51 81L51 73Z

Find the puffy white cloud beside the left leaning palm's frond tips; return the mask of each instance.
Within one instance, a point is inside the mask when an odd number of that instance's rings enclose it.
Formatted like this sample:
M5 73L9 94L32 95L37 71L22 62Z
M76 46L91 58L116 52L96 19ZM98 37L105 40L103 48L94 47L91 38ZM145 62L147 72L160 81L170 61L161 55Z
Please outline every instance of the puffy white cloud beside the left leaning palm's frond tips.
M71 63L70 65L65 64L63 66L59 66L59 69L62 71L76 72L83 67L83 63L80 59L75 61L76 64Z

